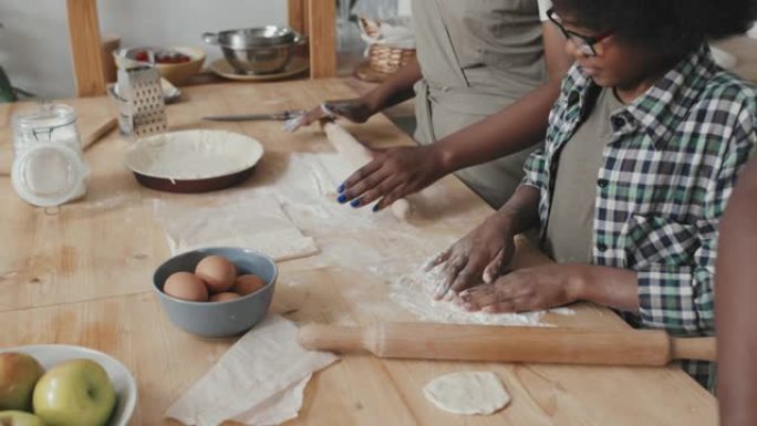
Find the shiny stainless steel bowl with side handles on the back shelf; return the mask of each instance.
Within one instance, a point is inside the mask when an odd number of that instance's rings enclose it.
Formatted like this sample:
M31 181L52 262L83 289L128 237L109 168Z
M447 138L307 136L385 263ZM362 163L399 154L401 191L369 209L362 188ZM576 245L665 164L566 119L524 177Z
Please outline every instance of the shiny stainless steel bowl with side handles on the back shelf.
M287 27L267 25L218 33L206 32L203 40L219 45L224 56L240 74L272 74L292 59L302 35Z

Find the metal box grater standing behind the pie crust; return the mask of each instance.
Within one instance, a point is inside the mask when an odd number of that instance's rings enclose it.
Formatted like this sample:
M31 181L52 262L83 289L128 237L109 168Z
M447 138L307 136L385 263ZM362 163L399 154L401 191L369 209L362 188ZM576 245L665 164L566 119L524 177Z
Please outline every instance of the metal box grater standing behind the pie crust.
M125 133L143 137L166 129L166 105L156 67L120 69L118 94L126 103L122 111L122 129Z

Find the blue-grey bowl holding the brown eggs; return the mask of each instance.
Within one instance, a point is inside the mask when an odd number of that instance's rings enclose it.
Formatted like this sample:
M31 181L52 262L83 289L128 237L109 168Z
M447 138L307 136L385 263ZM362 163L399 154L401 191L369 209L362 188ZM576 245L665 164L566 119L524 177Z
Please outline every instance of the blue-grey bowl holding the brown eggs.
M190 302L163 292L163 285L170 274L194 272L197 263L211 254L229 259L239 274L255 273L266 281L266 287L224 302ZM278 273L273 260L258 251L234 247L206 248L166 260L153 276L153 288L174 325L201 337L228 337L251 329L266 316L273 299Z

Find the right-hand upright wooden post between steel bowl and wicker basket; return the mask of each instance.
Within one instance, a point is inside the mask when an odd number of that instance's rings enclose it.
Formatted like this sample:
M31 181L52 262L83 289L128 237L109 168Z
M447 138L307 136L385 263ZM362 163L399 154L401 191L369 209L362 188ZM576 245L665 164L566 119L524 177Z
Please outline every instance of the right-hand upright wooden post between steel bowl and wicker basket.
M308 0L311 79L336 76L336 1Z

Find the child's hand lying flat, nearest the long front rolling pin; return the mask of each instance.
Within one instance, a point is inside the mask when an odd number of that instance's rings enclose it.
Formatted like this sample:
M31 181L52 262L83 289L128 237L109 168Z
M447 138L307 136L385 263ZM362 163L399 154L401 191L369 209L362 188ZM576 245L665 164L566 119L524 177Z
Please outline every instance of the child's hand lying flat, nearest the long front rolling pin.
M525 312L562 306L579 300L584 264L550 264L520 269L495 282L459 294L468 311Z

